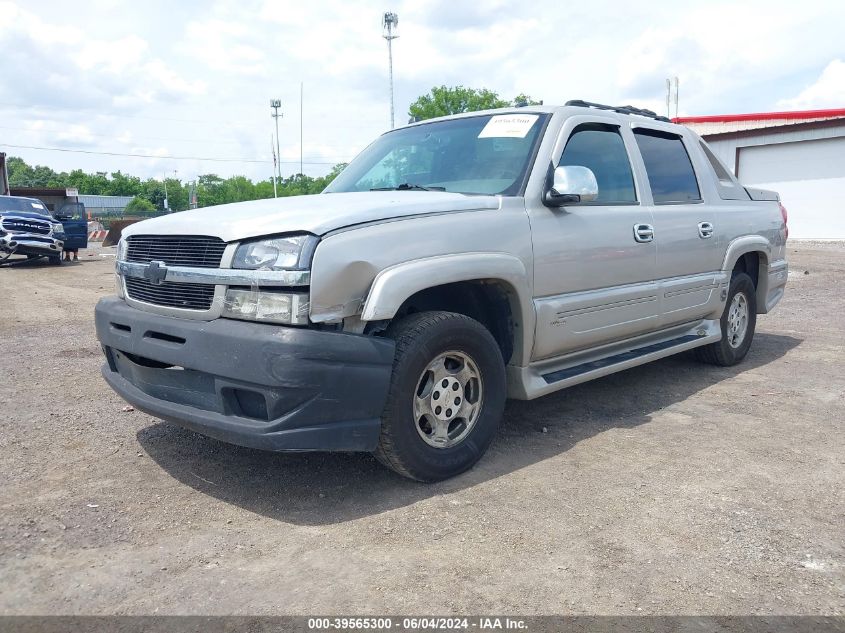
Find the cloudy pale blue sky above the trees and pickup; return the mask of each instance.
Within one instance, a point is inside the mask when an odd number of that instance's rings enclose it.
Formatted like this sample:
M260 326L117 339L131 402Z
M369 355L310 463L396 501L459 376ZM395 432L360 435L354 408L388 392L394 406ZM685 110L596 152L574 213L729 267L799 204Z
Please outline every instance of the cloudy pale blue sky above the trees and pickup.
M304 171L325 173L389 127L385 10L397 123L440 84L663 112L676 75L682 115L845 107L841 1L0 0L0 150L57 170L266 178L278 97L290 174L302 82Z

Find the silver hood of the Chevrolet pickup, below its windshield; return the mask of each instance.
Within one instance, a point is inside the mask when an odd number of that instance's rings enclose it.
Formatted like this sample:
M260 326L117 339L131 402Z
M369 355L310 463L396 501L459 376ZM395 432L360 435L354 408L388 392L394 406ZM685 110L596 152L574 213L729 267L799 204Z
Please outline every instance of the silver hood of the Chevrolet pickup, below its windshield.
M123 235L209 235L226 242L278 233L335 229L429 213L498 209L495 196L442 191L370 191L223 204L144 220Z

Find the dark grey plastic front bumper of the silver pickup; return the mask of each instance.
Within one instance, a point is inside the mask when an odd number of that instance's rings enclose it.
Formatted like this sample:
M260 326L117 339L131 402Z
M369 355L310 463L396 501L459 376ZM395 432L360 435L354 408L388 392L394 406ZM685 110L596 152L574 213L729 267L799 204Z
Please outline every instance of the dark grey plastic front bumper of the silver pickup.
M103 377L147 413L219 440L271 451L372 451L393 341L341 332L193 321L96 307Z

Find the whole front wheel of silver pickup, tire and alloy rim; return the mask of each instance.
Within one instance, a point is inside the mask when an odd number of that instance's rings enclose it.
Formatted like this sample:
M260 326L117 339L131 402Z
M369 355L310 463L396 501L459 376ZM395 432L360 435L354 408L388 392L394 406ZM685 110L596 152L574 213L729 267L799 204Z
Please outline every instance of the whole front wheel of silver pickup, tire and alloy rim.
M396 355L376 457L418 481L471 468L493 441L505 406L505 366L495 339L454 312L412 314L387 335Z

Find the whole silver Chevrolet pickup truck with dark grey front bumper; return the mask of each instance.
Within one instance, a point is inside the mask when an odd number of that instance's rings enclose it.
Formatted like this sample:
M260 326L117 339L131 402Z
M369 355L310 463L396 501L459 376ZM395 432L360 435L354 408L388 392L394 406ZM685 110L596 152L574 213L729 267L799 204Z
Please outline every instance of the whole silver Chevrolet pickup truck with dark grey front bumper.
M127 228L96 308L103 376L226 442L441 480L481 458L506 398L692 349L741 361L783 296L786 219L646 110L424 121L320 195Z

